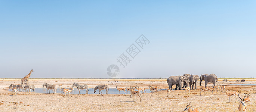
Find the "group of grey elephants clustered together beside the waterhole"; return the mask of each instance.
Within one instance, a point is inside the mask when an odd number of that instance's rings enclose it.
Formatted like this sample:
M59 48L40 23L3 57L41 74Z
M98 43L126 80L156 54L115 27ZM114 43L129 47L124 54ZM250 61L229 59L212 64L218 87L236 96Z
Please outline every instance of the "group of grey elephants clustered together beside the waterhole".
M192 86L191 89L194 89L195 85L195 89L197 89L198 80L200 80L200 86L201 82L204 80L204 87L206 87L207 83L213 83L215 86L215 83L218 82L218 78L215 74L204 74L200 77L198 75L183 74L181 76L170 76L167 78L167 84L169 85L170 90L172 90L172 85L176 85L175 90L181 90L183 86L188 87L188 85L190 88Z

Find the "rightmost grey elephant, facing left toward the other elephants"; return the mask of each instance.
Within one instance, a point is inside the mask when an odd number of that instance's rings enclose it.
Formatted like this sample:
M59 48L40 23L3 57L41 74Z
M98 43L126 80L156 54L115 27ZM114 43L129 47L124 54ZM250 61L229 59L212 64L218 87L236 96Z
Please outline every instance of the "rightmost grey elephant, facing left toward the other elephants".
M218 82L218 78L215 74L204 74L200 76L200 86L201 86L201 82L204 80L205 84L204 87L206 87L207 83L213 83L213 85L215 86L215 83Z

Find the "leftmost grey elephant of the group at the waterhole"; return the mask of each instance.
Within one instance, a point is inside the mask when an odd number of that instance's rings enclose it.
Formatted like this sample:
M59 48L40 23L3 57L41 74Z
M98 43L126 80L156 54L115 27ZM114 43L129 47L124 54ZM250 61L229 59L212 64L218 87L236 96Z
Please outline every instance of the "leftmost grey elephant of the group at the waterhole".
M174 84L176 85L175 90L177 90L177 87L179 87L178 89L181 90L183 84L187 84L185 76L170 76L167 78L166 83L168 83L170 90L172 90L172 85Z

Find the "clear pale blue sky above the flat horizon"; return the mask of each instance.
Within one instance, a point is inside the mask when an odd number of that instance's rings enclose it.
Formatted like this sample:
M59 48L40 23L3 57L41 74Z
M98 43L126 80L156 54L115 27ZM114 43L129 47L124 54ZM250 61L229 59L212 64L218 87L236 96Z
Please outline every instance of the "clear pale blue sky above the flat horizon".
M256 77L256 1L0 1L0 77ZM143 34L149 44L117 62Z

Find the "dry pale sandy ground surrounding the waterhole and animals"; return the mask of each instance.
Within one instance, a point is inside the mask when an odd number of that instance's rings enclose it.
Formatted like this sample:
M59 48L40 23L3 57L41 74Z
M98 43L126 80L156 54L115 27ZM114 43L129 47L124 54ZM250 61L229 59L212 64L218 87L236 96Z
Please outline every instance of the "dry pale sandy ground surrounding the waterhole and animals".
M24 93L18 92L18 95L12 95L9 89L10 84L19 84L21 79L0 79L0 111L26 111L26 112L43 112L43 111L155 111L155 112L182 112L183 109L191 102L192 108L198 109L200 112L237 112L239 101L228 103L228 96L221 92L216 95L206 94L200 96L200 89L191 90L191 94L185 94L185 90L171 91L170 98L167 98L167 91L159 91L159 96L154 93L141 94L141 102L136 97L136 102L129 95L121 94L95 94L85 95L85 90L81 90L82 95L71 94L70 98L62 97L62 94L46 94L46 93ZM232 85L232 84L256 84L255 79L246 79L246 82L235 82L237 79L229 79L231 82L220 84L227 85L229 91L237 91L238 93L250 93L251 102L247 102L247 112L256 112L256 86L255 85ZM228 81L229 81L228 80ZM70 87L74 82L87 84L89 88L96 85L108 84L110 88L118 85L120 88L130 88L130 86L138 85L139 87L148 88L160 87L166 89L166 79L30 79L28 83L33 84L36 88L42 88L43 83L62 84L62 87ZM122 84L121 84L122 83ZM198 81L199 83L199 81ZM204 81L202 83L204 85ZM198 88L199 84L197 85ZM209 87L212 83L208 83ZM58 87L58 86L57 86ZM174 86L173 86L174 87ZM105 93L105 91L103 92ZM121 92L123 93L123 92ZM237 96L237 99L238 96Z

